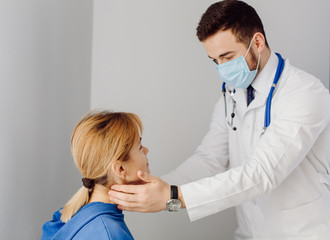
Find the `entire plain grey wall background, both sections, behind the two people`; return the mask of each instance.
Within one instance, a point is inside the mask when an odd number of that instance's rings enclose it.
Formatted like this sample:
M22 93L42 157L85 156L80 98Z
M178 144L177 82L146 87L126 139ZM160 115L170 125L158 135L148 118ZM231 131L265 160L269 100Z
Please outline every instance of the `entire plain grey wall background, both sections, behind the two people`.
M214 1L0 0L0 239L38 239L81 186L70 155L91 108L137 113L150 168L188 158L208 129L220 82L195 36ZM271 48L329 87L327 0L249 0ZM231 239L233 209L125 213L139 239Z

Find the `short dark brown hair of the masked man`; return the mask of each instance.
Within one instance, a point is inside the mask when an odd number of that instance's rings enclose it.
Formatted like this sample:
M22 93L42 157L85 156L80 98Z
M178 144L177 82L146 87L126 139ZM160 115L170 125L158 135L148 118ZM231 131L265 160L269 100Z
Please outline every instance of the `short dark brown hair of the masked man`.
M202 42L219 30L230 29L236 40L249 45L256 32L266 34L256 10L243 1L224 0L212 4L201 17L197 27L197 37Z

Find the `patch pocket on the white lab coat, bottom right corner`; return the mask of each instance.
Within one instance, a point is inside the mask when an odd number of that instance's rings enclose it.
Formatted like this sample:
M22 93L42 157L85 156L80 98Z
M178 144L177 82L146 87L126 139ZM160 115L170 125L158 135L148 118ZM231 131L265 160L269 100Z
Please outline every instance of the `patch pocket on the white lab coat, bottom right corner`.
M322 196L296 208L279 213L288 239L324 239L330 236L330 203Z

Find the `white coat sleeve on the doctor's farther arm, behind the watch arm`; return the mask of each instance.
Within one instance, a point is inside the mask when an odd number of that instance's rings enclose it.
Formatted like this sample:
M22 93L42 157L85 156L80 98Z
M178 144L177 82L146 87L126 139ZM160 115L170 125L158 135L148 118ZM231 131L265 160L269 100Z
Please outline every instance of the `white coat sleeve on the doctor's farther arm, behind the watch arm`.
M175 170L162 176L170 184L184 184L228 168L228 129L224 118L224 103L221 96L215 105L209 131L195 153Z

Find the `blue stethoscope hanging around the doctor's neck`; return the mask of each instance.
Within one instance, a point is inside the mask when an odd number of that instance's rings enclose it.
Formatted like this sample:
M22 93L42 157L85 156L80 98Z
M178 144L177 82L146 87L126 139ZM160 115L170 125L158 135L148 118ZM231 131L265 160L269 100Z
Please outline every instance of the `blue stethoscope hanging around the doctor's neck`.
M272 83L272 86L270 88L270 91L269 91L269 94L268 94L268 97L267 97L266 109L265 109L265 121L264 121L263 132L261 133L261 135L263 135L266 132L266 129L270 124L270 111L271 111L273 92L274 92L274 89L276 87L276 84L277 84L278 80L281 77L281 74L282 74L282 71L283 71L283 68L284 68L284 60L283 60L282 56L279 53L276 53L276 55L278 56L279 61L278 61L277 69L276 69L275 78L274 78L274 81ZM233 96L236 93L236 90L235 89L233 89L233 90L228 89L228 92L231 96ZM232 113L230 114L231 119L229 120L228 119L228 114L227 114L226 83L225 82L222 84L222 93L223 93L223 97L224 97L226 121L227 121L228 125L231 127L231 129L236 131L237 128L234 126L236 101L232 98L232 100L233 100L233 110L232 110Z

